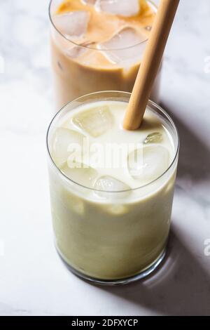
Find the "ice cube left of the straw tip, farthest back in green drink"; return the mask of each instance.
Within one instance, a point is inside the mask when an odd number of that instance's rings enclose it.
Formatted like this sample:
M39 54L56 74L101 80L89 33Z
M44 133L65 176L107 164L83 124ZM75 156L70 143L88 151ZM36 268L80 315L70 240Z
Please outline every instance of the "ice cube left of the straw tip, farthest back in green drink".
M102 105L101 107L94 107L89 111L78 113L73 117L72 121L73 124L89 133L90 136L97 138L109 131L113 126L114 119L109 107Z

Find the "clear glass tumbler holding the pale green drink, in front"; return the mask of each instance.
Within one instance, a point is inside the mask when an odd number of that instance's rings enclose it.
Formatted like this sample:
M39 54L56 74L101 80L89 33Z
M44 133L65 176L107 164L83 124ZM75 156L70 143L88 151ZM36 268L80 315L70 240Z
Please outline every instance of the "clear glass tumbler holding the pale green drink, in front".
M148 108L164 121L172 137L174 157L160 177L131 190L133 199L129 200L125 192L116 191L103 192L103 200L95 199L91 188L64 176L52 160L50 141L59 121L78 106L100 100L128 103L129 99L130 93L117 91L85 95L62 108L48 128L50 198L57 251L73 273L97 284L127 284L141 279L165 257L179 135L167 112L149 101Z

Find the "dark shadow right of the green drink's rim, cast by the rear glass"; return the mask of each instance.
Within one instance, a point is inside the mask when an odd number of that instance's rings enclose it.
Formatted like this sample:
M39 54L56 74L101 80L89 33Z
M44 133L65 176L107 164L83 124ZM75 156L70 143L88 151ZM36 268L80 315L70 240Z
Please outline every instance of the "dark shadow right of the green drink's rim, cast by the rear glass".
M179 130L181 147L178 178L190 178L192 182L210 180L210 148L176 116L176 109L161 103L167 109ZM190 119L189 119L190 120Z

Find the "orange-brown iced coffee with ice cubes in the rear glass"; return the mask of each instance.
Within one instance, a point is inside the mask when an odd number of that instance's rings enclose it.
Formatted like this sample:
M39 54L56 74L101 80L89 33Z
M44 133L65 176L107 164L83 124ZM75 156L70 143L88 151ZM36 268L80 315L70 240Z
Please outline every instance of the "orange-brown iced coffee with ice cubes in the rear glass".
M57 110L95 91L131 92L156 8L146 0L52 0ZM158 101L160 71L151 99Z

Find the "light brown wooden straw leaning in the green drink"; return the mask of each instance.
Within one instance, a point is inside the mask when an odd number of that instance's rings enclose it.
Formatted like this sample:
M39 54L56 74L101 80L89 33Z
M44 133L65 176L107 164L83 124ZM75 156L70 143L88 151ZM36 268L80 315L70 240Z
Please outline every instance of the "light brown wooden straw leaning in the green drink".
M160 0L130 103L125 113L123 127L127 130L135 130L141 126L178 6L179 0Z

